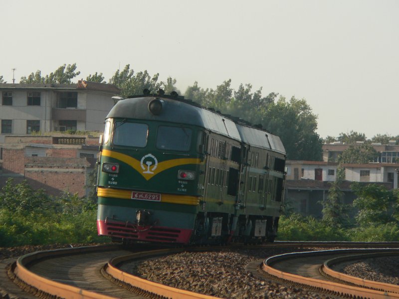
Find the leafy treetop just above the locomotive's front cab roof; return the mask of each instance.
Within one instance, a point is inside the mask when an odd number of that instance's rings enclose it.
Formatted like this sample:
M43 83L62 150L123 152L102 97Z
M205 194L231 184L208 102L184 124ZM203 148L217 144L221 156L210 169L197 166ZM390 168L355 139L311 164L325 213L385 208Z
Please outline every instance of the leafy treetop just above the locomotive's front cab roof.
M109 80L109 84L120 88L122 97L141 95L144 89L150 90L151 93L157 93L164 85L162 81L158 82L158 77L158 73L151 77L147 70L135 74L134 70L131 70L130 65L127 64L122 71L117 70L115 72Z

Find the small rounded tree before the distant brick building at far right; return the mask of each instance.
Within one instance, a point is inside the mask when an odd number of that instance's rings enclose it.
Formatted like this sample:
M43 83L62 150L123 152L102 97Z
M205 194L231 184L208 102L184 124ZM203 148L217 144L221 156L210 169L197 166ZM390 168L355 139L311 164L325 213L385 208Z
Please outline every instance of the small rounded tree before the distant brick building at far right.
M374 162L379 156L377 150L370 145L351 145L338 156L339 163L363 164Z

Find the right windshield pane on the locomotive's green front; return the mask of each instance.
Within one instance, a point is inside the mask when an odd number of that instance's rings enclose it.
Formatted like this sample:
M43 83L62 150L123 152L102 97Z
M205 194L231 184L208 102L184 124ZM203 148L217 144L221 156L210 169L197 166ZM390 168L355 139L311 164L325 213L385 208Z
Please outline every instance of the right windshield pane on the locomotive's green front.
M158 149L188 151L192 130L180 127L159 126L156 146Z

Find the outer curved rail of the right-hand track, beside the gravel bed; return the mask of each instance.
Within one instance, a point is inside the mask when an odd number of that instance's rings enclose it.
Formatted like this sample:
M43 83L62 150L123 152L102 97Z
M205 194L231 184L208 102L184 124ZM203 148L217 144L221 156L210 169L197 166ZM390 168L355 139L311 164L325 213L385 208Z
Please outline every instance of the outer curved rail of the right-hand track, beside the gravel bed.
M301 275L292 274L288 272L283 272L281 270L277 270L272 267L272 265L290 259L298 259L299 257L315 257L315 256L323 256L323 255L331 255L331 254L341 254L345 255L347 259L350 259L353 256L359 258L361 255L360 252L371 252L372 254L376 254L377 252L384 251L387 254L387 251L393 251L392 249L345 249L345 250L323 250L317 252L302 252L302 253L289 253L283 255L277 255L266 259L263 262L262 270L269 275L278 277L283 280L288 280L300 285L310 286L316 288L317 290L323 291L331 291L340 296L352 296L354 298L371 298L371 299L387 299L387 298L399 298L398 293L393 293L388 290L378 291L372 289L366 289L361 286L349 286L343 285L336 282L331 282L327 280L315 279L312 277L303 277ZM398 251L395 251L398 254ZM332 260L332 259L329 259ZM361 279L360 279L361 280ZM392 286L392 285L391 285Z

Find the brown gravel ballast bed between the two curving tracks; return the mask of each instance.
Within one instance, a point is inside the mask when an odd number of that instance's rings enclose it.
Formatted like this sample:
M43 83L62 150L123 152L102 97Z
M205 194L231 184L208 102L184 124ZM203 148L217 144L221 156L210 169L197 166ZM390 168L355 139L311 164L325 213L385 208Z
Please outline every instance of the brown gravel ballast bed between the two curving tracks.
M302 248L297 251L316 250ZM181 253L124 265L122 270L174 288L220 298L336 298L331 295L259 279L245 271L251 262L282 249L240 249L221 252Z

